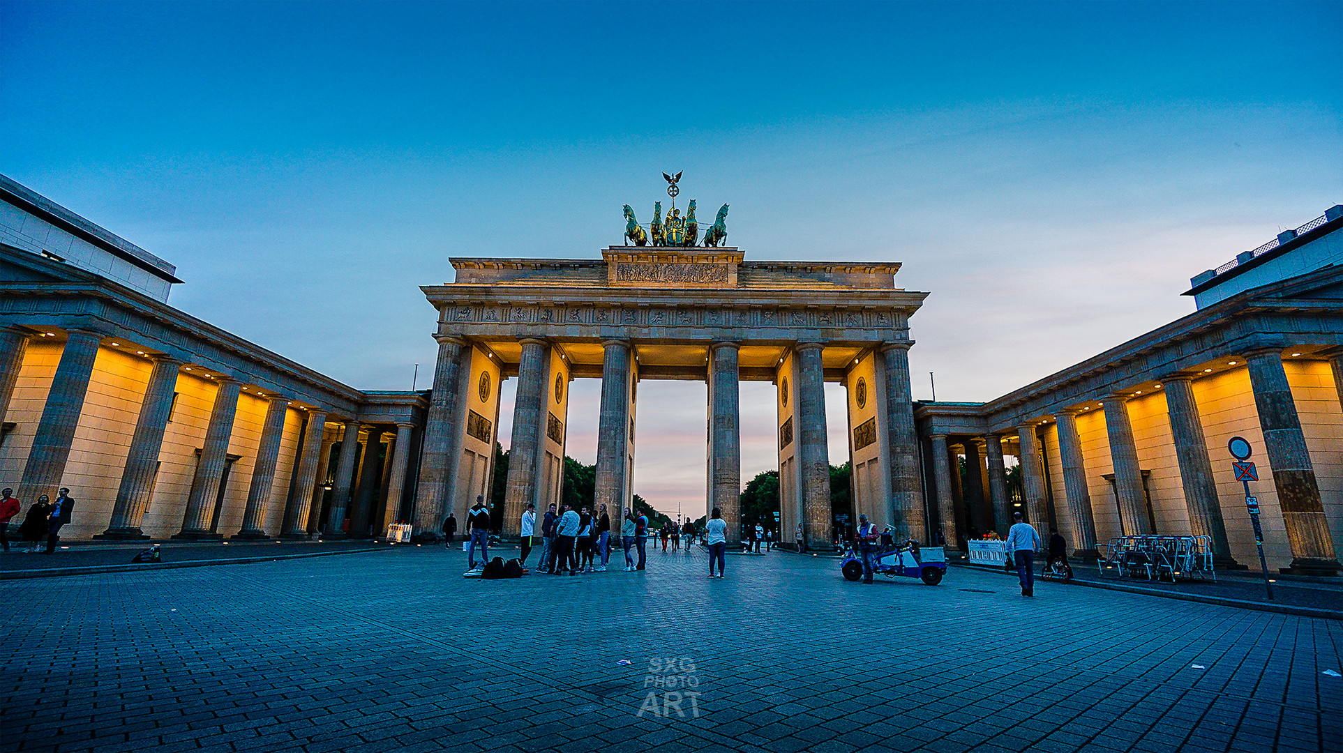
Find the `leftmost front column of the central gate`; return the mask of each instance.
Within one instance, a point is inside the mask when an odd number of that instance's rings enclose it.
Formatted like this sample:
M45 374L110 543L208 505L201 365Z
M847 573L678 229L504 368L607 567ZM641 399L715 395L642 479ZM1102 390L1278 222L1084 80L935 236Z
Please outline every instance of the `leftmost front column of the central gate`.
M457 415L458 381L462 360L470 357L466 341L450 334L435 334L438 341L438 365L434 366L434 391L430 396L428 416L424 420L424 438L420 443L419 487L415 491L414 514L415 533L439 534L443 525L443 507L447 505L447 487L453 468L457 467L461 450L453 450L454 435L462 425L454 420ZM470 364L467 364L470 368Z

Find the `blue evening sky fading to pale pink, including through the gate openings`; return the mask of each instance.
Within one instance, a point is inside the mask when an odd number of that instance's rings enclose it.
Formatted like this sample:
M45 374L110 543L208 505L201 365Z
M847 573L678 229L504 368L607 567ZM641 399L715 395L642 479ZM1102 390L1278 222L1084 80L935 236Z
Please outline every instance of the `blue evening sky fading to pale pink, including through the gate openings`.
M685 170L748 259L902 262L916 397L984 400L1343 201L1340 71L1336 1L3 3L0 172L177 264L181 309L395 389L449 256L595 258ZM704 388L647 387L637 487L702 506Z

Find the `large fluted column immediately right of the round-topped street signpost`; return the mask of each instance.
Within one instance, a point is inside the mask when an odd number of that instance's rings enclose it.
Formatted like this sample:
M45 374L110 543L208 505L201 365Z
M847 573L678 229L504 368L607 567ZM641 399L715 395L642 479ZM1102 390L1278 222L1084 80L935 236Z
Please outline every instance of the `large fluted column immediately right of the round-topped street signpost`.
M1248 353L1248 361L1273 486L1292 546L1292 572L1332 576L1343 568L1334 553L1320 486L1305 447L1305 435L1301 434L1292 388L1287 384L1283 354L1277 349L1254 350Z

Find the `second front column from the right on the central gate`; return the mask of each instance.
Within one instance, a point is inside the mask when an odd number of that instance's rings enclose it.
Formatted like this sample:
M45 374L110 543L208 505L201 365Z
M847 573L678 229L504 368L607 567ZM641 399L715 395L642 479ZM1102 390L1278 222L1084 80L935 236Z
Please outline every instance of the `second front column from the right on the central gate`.
M830 438L826 432L822 345L798 345L798 471L802 476L802 519L807 549L833 549L830 538Z

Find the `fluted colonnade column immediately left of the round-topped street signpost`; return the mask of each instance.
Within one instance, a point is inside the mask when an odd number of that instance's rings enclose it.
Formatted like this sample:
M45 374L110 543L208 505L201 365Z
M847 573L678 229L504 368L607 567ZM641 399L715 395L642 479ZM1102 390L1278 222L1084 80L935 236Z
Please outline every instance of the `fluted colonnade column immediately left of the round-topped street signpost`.
M1162 387L1166 391L1166 415L1175 442L1175 459L1179 460L1190 530L1194 536L1206 536L1213 541L1213 558L1219 568L1234 566L1237 562L1226 541L1222 505L1217 498L1217 482L1213 481L1213 462L1207 456L1207 438L1203 436L1203 421L1194 400L1193 377L1170 376L1162 380Z

